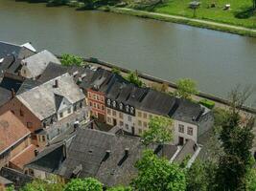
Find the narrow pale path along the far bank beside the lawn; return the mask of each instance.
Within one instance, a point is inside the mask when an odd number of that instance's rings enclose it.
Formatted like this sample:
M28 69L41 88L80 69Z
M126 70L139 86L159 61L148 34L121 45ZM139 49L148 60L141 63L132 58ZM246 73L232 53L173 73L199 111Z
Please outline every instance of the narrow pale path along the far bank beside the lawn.
M248 29L248 28L244 28L244 27L228 25L228 24L223 24L223 23L217 23L217 22L213 22L213 21L206 21L206 20L201 20L201 19L196 19L196 18L188 18L188 17L184 17L184 16L176 16L176 15L171 15L171 14L164 14L164 13L150 12L150 11L137 11L137 10L135 11L135 10L128 9L128 8L117 8L117 10L134 11L134 12L146 13L146 14L152 15L152 16L154 15L154 16L162 16L162 17L166 17L166 18L174 18L174 19L179 19L179 20L193 21L193 22L197 22L197 23L201 23L201 24L207 24L207 25L212 25L212 26L217 26L217 27L225 27L225 28L230 28L233 30L241 30L244 32L256 32L256 30L253 30L253 29Z

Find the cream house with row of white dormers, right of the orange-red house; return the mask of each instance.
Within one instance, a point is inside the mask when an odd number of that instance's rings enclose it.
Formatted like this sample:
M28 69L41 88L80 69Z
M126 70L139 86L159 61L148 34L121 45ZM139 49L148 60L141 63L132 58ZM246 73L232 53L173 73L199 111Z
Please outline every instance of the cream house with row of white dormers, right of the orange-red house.
M112 126L118 125L135 135L137 104L148 91L131 83L116 81L106 95L106 123Z

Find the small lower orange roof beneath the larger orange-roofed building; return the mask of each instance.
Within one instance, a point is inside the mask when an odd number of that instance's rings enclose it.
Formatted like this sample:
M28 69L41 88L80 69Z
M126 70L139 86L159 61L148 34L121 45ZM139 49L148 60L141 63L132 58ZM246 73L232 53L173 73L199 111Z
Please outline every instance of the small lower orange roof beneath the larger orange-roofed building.
M20 169L23 169L25 164L29 163L32 159L35 158L35 149L36 146L31 144L17 156L12 158L10 162Z

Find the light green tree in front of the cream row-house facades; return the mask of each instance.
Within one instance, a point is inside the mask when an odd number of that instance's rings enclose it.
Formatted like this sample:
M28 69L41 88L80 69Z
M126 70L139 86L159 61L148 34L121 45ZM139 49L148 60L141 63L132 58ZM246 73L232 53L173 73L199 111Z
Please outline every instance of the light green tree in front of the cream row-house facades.
M149 130L143 134L144 144L165 143L173 139L173 120L169 117L152 117Z

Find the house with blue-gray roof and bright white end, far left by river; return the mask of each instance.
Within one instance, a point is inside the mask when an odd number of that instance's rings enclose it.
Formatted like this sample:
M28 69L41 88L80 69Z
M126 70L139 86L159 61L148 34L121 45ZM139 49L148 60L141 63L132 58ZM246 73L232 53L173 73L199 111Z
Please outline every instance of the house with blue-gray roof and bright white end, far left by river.
M6 55L14 55L16 58L25 58L33 55L36 52L31 43L25 43L23 45L12 44L8 42L0 41L0 64L3 57Z

